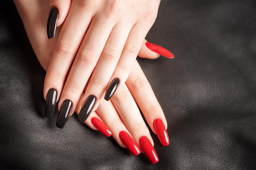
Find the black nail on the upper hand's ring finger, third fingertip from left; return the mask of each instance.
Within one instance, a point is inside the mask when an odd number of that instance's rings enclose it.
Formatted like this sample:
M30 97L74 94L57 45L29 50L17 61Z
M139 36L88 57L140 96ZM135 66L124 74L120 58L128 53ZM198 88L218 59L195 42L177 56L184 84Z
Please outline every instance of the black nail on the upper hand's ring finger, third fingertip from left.
M80 110L80 113L77 117L78 121L81 123L84 123L85 120L88 118L90 115L92 108L94 104L96 103L96 97L94 95L88 96L88 98L85 101L85 104L83 105L83 108Z

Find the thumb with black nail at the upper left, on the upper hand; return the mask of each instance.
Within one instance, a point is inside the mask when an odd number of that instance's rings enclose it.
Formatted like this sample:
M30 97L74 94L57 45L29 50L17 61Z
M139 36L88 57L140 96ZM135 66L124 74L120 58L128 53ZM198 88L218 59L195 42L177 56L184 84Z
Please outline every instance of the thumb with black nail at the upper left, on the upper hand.
M70 9L71 0L49 0L50 12L47 21L48 38L54 38L56 27L63 24Z

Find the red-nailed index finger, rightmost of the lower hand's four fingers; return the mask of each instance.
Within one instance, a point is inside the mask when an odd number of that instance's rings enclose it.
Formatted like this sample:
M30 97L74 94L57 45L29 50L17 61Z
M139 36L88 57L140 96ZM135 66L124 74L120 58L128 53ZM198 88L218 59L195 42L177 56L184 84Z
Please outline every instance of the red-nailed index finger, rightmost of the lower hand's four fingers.
M164 112L137 61L132 67L126 84L151 130L157 134L161 144L167 146L169 144L169 137L166 131L167 121Z

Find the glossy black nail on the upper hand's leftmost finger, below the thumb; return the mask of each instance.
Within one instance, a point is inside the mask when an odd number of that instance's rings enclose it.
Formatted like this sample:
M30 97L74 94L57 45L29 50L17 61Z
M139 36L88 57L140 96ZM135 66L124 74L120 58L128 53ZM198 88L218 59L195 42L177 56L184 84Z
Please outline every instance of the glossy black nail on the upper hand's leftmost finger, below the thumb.
M52 117L56 107L57 91L54 88L50 88L47 93L45 104L45 116Z

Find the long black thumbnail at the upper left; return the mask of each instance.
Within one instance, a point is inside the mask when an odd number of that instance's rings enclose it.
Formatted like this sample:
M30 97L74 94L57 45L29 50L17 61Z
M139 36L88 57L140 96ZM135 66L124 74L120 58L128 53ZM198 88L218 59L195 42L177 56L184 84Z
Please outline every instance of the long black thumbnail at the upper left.
M57 21L58 21L58 9L56 7L52 7L49 12L49 17L48 17L48 21L47 21L48 39L54 38Z

